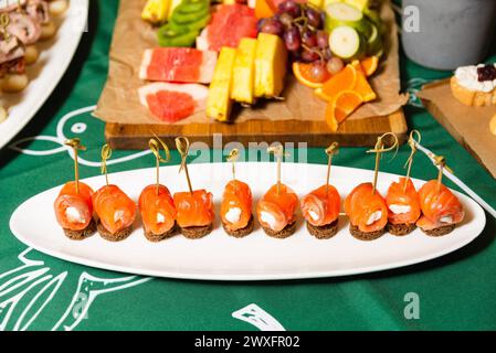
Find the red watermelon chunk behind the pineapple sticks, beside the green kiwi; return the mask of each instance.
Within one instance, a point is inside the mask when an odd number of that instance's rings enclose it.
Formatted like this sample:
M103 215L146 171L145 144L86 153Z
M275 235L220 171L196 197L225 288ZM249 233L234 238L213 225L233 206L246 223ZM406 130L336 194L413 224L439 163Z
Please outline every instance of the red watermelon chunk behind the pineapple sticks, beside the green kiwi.
M197 38L197 47L219 52L222 46L236 47L242 38L256 38L256 18L245 4L221 4L212 21Z

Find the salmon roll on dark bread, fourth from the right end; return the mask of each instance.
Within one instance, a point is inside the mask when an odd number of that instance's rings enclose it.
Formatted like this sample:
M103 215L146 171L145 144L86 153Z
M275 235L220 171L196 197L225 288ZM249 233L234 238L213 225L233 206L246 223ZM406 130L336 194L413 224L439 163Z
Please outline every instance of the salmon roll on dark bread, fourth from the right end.
M308 232L318 239L328 239L338 232L341 197L333 185L323 185L302 199L302 212Z

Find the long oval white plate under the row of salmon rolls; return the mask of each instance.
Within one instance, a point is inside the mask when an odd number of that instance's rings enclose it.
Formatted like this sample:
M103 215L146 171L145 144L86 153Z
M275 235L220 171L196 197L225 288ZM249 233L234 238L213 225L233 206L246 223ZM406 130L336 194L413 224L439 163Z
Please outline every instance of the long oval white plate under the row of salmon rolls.
M229 163L191 164L193 188L207 188L214 195L219 210L225 182L231 178ZM274 163L238 163L238 178L246 181L254 201L274 182ZM371 171L333 167L331 182L345 197L358 183L372 180ZM283 164L283 182L302 196L324 184L326 165ZM119 172L109 175L137 200L144 186L154 182L155 169ZM178 167L161 168L162 182L171 192L184 191L183 174ZM381 173L378 189L384 194L398 175ZM85 180L95 190L104 184L103 176ZM416 186L422 181L414 180ZM341 217L339 233L328 240L318 240L306 231L300 217L295 235L286 239L266 236L257 225L250 236L238 239L228 236L219 224L209 236L190 240L176 236L159 244L143 235L139 221L129 238L109 243L98 235L83 242L67 239L53 212L59 188L45 191L24 202L12 214L10 227L28 246L49 255L87 266L116 271L209 280L266 280L315 278L363 274L425 261L454 252L471 243L483 231L484 211L469 197L456 193L466 217L455 231L444 237L429 237L416 229L405 237L383 235L373 242L355 239L348 232L348 221Z

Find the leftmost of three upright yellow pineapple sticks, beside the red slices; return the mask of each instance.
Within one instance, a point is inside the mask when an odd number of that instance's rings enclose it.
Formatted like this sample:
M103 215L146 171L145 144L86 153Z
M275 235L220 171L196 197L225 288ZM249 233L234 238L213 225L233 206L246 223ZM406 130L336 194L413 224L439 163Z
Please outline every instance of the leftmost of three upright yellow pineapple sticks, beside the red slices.
M231 113L231 85L236 50L223 46L217 61L207 100L207 116L228 121Z

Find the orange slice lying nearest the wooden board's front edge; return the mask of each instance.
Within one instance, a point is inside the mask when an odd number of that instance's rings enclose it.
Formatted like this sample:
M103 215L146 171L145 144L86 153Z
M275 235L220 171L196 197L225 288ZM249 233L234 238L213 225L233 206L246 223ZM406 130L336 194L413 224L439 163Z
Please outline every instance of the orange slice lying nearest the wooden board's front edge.
M337 131L339 124L353 113L363 99L353 90L344 90L333 99L326 108L326 122L333 131Z

